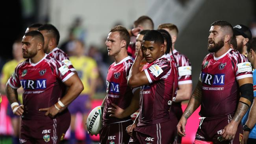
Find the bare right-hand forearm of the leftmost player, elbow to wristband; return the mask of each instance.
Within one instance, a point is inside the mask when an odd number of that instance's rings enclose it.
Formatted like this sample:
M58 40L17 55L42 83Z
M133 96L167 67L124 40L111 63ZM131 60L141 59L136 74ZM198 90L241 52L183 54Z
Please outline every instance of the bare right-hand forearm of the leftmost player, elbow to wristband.
M82 90L83 90L83 84L81 81L80 82L78 81L77 83L72 83L72 85L69 87L69 90L67 91L65 96L61 98L60 101L65 106L69 105L74 99L76 99L79 96Z

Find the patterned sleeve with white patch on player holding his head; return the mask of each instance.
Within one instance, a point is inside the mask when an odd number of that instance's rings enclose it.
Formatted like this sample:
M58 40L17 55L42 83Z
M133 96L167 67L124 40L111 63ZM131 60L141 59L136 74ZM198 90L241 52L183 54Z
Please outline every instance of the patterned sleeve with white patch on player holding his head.
M145 69L145 74L149 83L167 78L171 73L171 63L168 60L154 62L149 68Z

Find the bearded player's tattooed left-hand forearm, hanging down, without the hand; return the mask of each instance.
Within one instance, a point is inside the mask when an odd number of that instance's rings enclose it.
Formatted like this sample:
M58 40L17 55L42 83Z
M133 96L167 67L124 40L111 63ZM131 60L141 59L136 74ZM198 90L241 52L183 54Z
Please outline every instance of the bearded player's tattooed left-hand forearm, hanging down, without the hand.
M189 103L187 105L186 110L183 113L184 118L189 118L191 114L201 105L201 98L202 98L202 82L198 81L197 87L195 88Z

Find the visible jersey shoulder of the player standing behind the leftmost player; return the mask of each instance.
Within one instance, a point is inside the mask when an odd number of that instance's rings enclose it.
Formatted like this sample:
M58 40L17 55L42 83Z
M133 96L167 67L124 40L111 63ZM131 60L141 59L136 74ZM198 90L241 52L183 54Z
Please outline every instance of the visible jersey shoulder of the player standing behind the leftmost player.
M72 72L76 71L72 63L69 61L69 56L63 52L63 50L56 47L48 55L65 63Z

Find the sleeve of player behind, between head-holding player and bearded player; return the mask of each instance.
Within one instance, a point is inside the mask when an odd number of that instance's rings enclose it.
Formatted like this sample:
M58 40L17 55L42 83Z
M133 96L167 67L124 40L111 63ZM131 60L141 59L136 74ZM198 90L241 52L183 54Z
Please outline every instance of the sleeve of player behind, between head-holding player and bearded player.
M178 67L178 85L192 83L192 67L189 59L182 55L180 62L181 66Z

